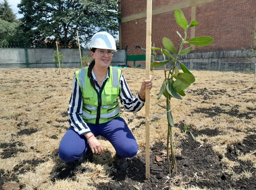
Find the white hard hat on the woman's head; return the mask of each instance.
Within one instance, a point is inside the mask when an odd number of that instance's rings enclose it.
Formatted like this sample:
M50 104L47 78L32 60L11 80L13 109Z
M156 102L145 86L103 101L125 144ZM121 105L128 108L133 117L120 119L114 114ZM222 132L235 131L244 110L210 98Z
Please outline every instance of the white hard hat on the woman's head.
M92 49L93 47L117 50L116 41L108 32L97 32L94 34L88 48Z

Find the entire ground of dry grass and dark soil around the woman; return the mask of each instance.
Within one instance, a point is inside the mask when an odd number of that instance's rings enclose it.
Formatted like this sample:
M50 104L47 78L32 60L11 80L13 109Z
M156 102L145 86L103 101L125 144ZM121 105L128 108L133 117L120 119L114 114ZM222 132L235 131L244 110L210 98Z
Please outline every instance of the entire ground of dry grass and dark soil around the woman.
M172 99L177 175L168 175L166 114L150 122L150 179L145 179L145 119L121 109L139 144L127 171L114 167L115 151L105 149L93 163L63 162L58 144L69 127L67 108L76 68L0 70L0 189L256 189L256 90L253 73L192 71L196 82L183 100ZM122 68L133 93L145 70ZM163 70L151 72L150 117L164 112L157 100ZM158 162L156 156L163 160Z

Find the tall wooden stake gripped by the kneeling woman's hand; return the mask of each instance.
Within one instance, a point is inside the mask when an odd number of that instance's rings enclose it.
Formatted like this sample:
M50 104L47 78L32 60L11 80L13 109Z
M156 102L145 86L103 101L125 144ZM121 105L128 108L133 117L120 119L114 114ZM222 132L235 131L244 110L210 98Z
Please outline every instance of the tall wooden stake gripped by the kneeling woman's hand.
M151 18L152 18L152 0L147 0L147 29L146 29L146 80L149 79L150 75L150 59L151 59ZM145 145L146 145L146 179L150 177L150 167L149 167L149 156L150 156L150 141L149 141L149 89L146 88L146 102L145 102Z

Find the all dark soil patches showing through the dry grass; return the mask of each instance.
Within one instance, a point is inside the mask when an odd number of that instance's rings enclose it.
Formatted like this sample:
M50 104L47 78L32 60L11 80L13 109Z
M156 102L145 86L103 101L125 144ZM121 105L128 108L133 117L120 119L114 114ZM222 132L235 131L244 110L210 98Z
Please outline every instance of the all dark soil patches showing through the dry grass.
M36 71L37 72L37 71ZM7 73L7 72L6 72ZM11 74L10 72L8 72ZM74 72L73 72L74 73ZM72 75L73 76L73 75ZM73 77L72 77L73 78ZM67 80L71 80L72 78L67 77ZM21 80L15 80L14 83L18 83ZM34 81L27 81L33 83ZM132 80L130 84L132 84ZM242 83L244 81L233 81L234 85L237 83ZM216 83L217 84L217 83ZM68 85L67 83L65 85ZM194 83L196 87L196 83ZM213 84L212 86L214 86ZM70 86L70 84L68 85ZM47 88L53 87L53 85L47 85ZM54 89L55 90L55 89ZM231 90L232 91L232 90ZM233 91L236 91L233 89ZM242 94L246 94L248 91L243 91ZM228 94L228 91L225 89L210 89L210 88L201 88L201 89L187 89L187 94L193 94L193 96L200 96L199 99L193 100L198 104L206 105L208 104L209 100L214 100L216 98L215 95L231 97ZM70 95L69 95L70 96ZM248 96L252 96L249 94ZM44 100L51 100L54 96L53 95L46 95ZM190 104L191 99L187 99L185 101L186 105ZM245 102L250 103L246 106L247 110L241 112L238 102ZM39 102L41 103L41 102ZM223 102L222 102L223 103ZM255 99L238 99L234 105L230 105L227 103L219 104L216 102L212 103L212 106L200 106L193 109L192 112L189 114L193 115L194 113L203 113L203 117L213 118L216 116L227 115L230 117L237 117L241 120L253 120L256 117L256 107L255 107ZM35 103L33 103L35 104ZM23 105L21 105L23 106ZM225 107L225 108L224 108ZM228 108L228 109L226 109ZM66 109L66 108L65 108ZM32 109L26 109L25 111L32 111ZM121 110L122 112L122 110ZM67 126L64 125L64 122L67 121L68 113L67 111L59 112L61 118L48 120L46 124L52 124L52 127L56 128L56 134L49 136L50 139L58 139L57 132L63 133L62 129L67 129ZM17 129L20 131L14 134L11 134L13 138L18 139L20 136L23 135L31 135L37 132L40 129L36 127L32 127L31 120L27 121L26 119L19 119L21 114L17 114L14 116L15 120L18 121ZM3 117L2 119L8 119L7 117ZM144 119L142 117L137 117L137 119ZM132 118L127 119L127 123L132 122ZM34 119L34 121L39 122L38 119ZM155 120L157 122L157 119ZM57 124L56 124L57 123ZM140 126L144 125L145 122L138 123L133 126L131 129L136 130ZM232 128L232 123L227 125L227 129L231 131L239 132L239 129ZM24 129L23 126L27 126ZM184 123L176 124L175 127L180 128L181 130L184 127ZM193 126L188 126L188 129L194 134L195 137L207 135L209 137L214 137L222 133L218 129L209 129L208 126L205 126L204 130L198 131L193 128ZM255 126L253 126L255 127ZM134 189L143 189L143 190L166 190L169 189L171 186L196 186L201 189L249 189L249 190L256 190L256 168L253 166L253 163L243 162L238 159L241 154L248 154L254 152L256 150L256 133L254 131L247 130L245 133L249 134L242 142L234 143L227 146L225 157L230 161L238 162L238 166L234 166L232 168L232 172L225 172L227 171L227 166L222 162L223 155L215 153L213 151L213 147L210 144L204 143L200 144L199 142L194 142L192 138L189 137L189 134L186 135L185 138L181 138L179 141L178 148L181 149L181 154L176 156L177 161L177 174L169 175L168 173L168 166L167 166L167 159L162 152L164 152L165 144L161 142L155 143L150 149L150 179L146 179L146 167L145 167L145 152L138 153L135 157L128 160L128 168L126 171L114 171L110 174L112 177L112 181L108 183L100 183L97 186L99 190L134 190ZM102 138L102 137L98 137ZM103 139L104 140L104 139ZM206 140L205 140L206 142ZM1 159L10 159L12 157L17 156L19 152L25 152L28 150L22 149L23 144L21 142L11 142L11 143L0 143ZM37 152L38 150L34 147L30 147L31 150ZM254 153L255 155L255 153ZM7 187L11 188L11 185L14 183L9 182L17 182L16 187L22 189L25 184L20 183L18 180L18 174L25 174L28 171L35 170L35 167L49 159L51 156L58 156L57 150L54 152L49 153L49 155L45 155L44 158L40 158L40 160L28 160L24 162L19 162L13 168L13 170L9 173L5 173L3 170L0 170L0 190L8 189ZM163 158L162 161L158 162L156 157ZM171 162L171 161L170 161ZM75 180L75 167L79 165L78 161L68 162L63 167L54 168L59 173L55 176L51 177L51 180L54 182L56 180L65 180L71 179ZM110 163L111 164L111 163ZM231 169L230 169L231 170ZM252 173L252 177L250 178L243 178L240 180L233 180L233 174L241 174L243 172L250 172ZM233 173L233 174L232 174ZM50 177L50 175L49 175Z

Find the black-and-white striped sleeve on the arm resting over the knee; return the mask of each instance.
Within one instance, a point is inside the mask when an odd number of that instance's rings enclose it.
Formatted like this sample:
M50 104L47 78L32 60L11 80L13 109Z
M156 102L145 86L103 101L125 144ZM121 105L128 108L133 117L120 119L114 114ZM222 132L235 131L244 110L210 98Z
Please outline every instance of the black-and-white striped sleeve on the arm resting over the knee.
M69 108L68 108L68 114L69 114L69 123L73 130L77 132L79 135L83 135L85 133L91 132L88 125L84 122L82 118L82 92L81 88L74 77L73 79L73 87L72 87L72 94L69 101Z

